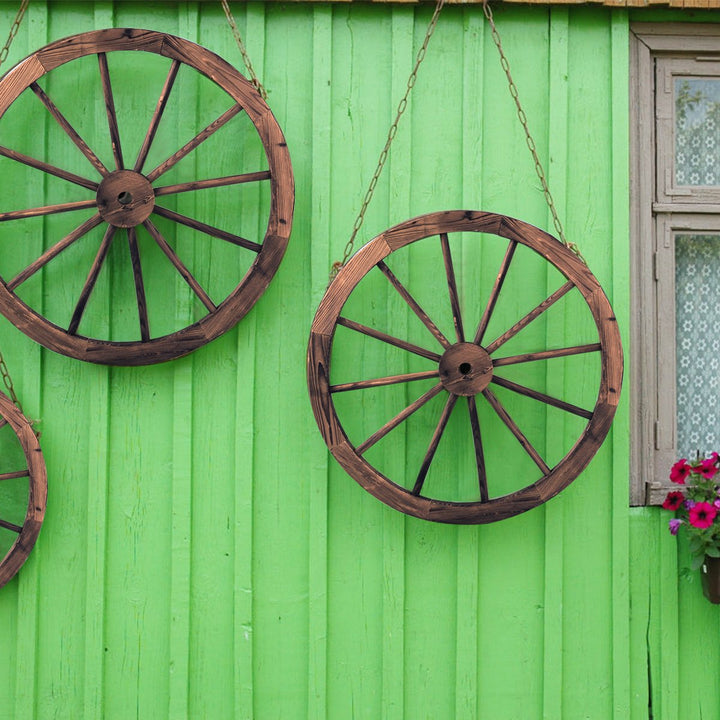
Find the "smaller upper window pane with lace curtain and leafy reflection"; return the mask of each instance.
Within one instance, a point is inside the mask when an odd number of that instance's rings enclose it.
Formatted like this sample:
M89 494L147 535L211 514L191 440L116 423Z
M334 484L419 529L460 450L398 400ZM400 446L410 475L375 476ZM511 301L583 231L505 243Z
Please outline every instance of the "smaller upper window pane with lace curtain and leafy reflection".
M720 185L720 78L675 78L675 183Z

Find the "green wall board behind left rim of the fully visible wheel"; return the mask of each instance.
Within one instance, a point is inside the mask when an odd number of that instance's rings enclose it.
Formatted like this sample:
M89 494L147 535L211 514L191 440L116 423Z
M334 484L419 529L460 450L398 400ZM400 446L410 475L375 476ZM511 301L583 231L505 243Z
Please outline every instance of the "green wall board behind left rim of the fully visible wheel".
M331 207L337 234L331 235L330 247L335 260L342 256L391 122L390 81L377 82L381 69L387 72L392 66L390 8L378 13L371 6L336 6L332 40ZM371 107L373 112L367 112ZM385 227L387 182L385 176L378 185L356 250ZM364 310L374 322L387 318L382 301ZM347 336L336 338L335 362L347 356L347 340ZM383 357L383 349L368 352L361 347L353 373L361 375L367 363L378 357ZM384 398L350 399L361 420L378 405L384 407ZM383 526L385 512L391 511L335 461L329 471L327 716L371 718L382 713L384 693Z

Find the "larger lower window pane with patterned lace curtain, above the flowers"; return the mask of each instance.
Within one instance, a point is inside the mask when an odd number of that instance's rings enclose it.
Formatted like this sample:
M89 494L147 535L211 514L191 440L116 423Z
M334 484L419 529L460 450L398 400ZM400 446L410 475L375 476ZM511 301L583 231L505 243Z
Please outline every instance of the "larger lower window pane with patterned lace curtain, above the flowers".
M675 236L678 457L720 451L719 276L720 235Z

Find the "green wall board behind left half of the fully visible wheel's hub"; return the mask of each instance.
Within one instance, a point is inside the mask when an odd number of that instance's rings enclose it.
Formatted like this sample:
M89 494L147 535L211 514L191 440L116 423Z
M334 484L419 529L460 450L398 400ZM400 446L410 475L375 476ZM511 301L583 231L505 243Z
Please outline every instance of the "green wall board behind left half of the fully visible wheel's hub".
M406 80L425 37L431 13L432 7L419 6L415 9L412 51L408 53L404 73ZM411 131L411 145L404 166L405 172L412 177L408 198L410 216L438 208L457 207L462 199L459 181L463 155L463 88L461 81L456 79L462 73L461 16L461 8L443 9L418 72L409 106L411 116L408 118L406 114L404 118L404 122L410 122L401 126L396 136L397 141L402 133ZM440 108L456 110L442 112ZM396 172L395 165L392 169ZM389 181L394 184L395 175ZM409 256L410 287L416 292L420 289L426 291L422 296L423 302L427 302L428 297L435 300L435 307L424 307L436 322L442 323L445 318L451 317L447 278L444 272L438 272L437 265L433 265L433 261L442 262L442 253L439 243L435 244L432 240L420 242L423 244L403 248L398 255ZM432 250L437 253L433 255ZM461 263L457 256L454 260L456 265ZM460 266L456 270L465 276L465 268ZM441 317L440 312L443 313ZM408 313L408 331L414 327L411 323L415 322ZM446 327L445 332L449 332ZM416 390L410 392L415 393ZM410 477L420 468L446 397L438 400L418 423L407 429L404 455ZM450 494L453 483L465 469L459 454L443 454L448 447L448 438L453 437L452 433L462 424L458 421L462 419L463 411L467 413L466 408L459 406L460 403L450 418L450 429L441 441L432 468L444 481L444 491ZM461 632L458 610L464 609L459 594L466 589L468 580L463 578L461 582L458 577L463 567L458 553L460 530L462 528L415 518L405 520L405 717L452 717L458 704L465 705L472 688L470 677L458 678L458 653L463 655L468 651L466 645L458 647ZM472 602L472 599L471 595L468 600ZM469 669L472 671L472 667ZM459 698L456 694L458 686L462 688Z

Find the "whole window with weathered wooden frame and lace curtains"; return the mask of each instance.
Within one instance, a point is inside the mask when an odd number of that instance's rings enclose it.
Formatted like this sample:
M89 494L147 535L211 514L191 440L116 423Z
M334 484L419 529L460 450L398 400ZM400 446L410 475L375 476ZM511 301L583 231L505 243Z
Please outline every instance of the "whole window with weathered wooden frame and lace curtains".
M720 24L631 35L633 505L720 449Z

